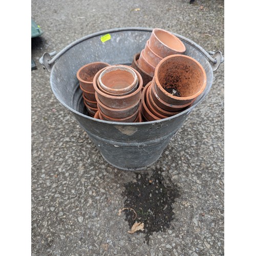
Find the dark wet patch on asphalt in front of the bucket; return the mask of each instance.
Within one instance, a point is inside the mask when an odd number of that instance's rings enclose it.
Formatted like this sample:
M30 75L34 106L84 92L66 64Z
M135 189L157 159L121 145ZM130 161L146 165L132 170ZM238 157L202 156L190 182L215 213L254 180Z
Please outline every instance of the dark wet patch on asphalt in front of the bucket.
M131 230L137 222L143 228L136 231L145 233L145 242L149 244L153 232L166 231L173 220L175 199L179 197L179 189L170 180L161 175L162 170L156 169L153 175L136 173L136 182L126 183L122 194L125 220Z

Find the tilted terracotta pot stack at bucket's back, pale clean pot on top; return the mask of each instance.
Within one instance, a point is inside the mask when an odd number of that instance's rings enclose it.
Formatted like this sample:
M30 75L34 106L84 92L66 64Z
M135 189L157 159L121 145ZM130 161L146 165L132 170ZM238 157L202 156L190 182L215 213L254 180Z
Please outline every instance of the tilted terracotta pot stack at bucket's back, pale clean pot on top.
M141 53L133 57L132 67L140 72L144 87L152 81L158 63L172 54L183 54L186 48L183 42L172 33L163 29L153 29Z

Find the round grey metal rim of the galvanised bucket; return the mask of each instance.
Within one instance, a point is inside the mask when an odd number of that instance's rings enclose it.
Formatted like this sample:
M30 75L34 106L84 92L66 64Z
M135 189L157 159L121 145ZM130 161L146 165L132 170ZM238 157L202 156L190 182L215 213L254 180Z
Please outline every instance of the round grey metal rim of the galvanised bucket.
M105 34L108 34L108 33L114 33L114 32L122 32L122 31L145 31L145 32L152 32L153 31L153 28L145 28L145 27L127 27L127 28L114 28L114 29L108 29L108 30L103 30L103 31L99 31L99 32L96 32L96 33L92 33L92 34L89 34L87 36L84 36L84 37L81 37L80 39L78 40L75 40L74 42L72 42L70 45L68 45L67 47L65 47L64 49L62 49L54 58L51 59L51 62L55 62L57 61L57 59L63 55L65 52L67 52L69 49L71 49L72 47L78 45L80 42L84 41L84 40L88 40L90 38L93 38L93 37L96 37L96 36L100 36L100 35L105 35ZM170 31L169 31L170 32ZM207 60L207 63L209 65L209 68L210 68L210 73L211 73L211 76L213 77L213 70L211 68L211 65L207 59L207 52L199 45L197 45L194 41L184 37L184 36L181 36L179 34L176 34L174 32L170 32L172 34L174 34L175 36L177 36L179 39L181 39L182 41L185 41L187 42L189 45L191 45L192 47L196 48L198 51L200 51L202 53L202 55L204 55L204 58ZM143 121L143 122L113 122L113 121L105 121L105 120L101 120L101 119L97 119L97 118L94 118L94 117L90 117L90 116L87 116L87 115L84 115L76 110L74 110L73 108L71 108L69 105L67 105L65 102L63 102L60 97L58 96L58 94L55 92L54 90L54 87L53 87L53 74L54 74L54 70L55 70L55 63L52 67L52 70L51 70L51 74L50 74L50 85L51 85L51 89L52 89L52 92L53 94L55 95L56 99L63 105L65 106L68 110L70 110L71 112L81 116L81 117L84 117L84 118L88 118L92 121L97 121L97 122L100 122L100 123L108 123L108 124L113 124L113 125L135 125L135 126L139 126L139 125L145 125L145 124L155 124L155 123L162 123L162 122L165 122L165 121L168 121L168 120L171 120L171 119L174 119L176 117L179 117L181 115L188 115L199 103L201 103L205 97L208 95L210 89L211 89L211 86L212 86L212 80L210 81L210 84L209 84L209 87L207 88L207 86L205 87L204 91L202 92L202 95L200 99L196 100L193 105L191 105L188 109L180 112L179 114L176 114L174 116L170 116L170 117L167 117L167 118L163 118L163 119L160 119L160 120L155 120L155 121ZM207 78L206 78L207 80Z

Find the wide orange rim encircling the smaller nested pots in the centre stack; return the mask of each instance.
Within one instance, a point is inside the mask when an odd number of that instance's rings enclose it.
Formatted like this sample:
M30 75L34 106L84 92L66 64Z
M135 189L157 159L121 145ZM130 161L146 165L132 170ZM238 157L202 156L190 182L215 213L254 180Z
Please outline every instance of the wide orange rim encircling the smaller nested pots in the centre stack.
M124 66L126 66L126 65L124 65ZM127 67L129 67L129 66L127 66ZM93 87L94 87L95 91L96 91L98 94L100 94L101 96L105 97L105 98L119 99L119 100L120 100L120 99L127 99L127 98L129 98L129 97L132 97L132 96L136 95L136 94L137 94L139 91L141 91L141 89L142 89L143 80L142 80L142 77L141 77L140 73L139 73L137 70L135 70L135 69L132 68L132 67L130 67L130 68L135 71L135 73L136 73L137 76L138 76L138 80L139 80L137 89L136 89L134 92L132 92L131 94L127 94L127 95L124 95L124 96L114 96L114 95L105 94L105 93L103 93L102 91L99 90L98 84L97 84L97 79L98 79L97 76L99 76L99 74L100 74L104 69L106 69L106 67L103 68L103 69L101 69L101 70L99 70L99 71L96 73L96 75L94 76L94 78L93 78Z

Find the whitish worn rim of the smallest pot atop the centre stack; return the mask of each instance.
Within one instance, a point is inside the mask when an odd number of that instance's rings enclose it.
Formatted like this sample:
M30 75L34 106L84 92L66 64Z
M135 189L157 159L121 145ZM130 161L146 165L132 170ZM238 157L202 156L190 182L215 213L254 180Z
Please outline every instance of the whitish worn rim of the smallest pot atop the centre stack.
M127 87L125 87L125 88L122 88L122 89L112 89L112 88L106 86L106 85L102 82L102 80L101 80L102 76L103 76L104 74L106 74L106 73L109 73L109 72L112 72L112 71L115 71L115 70L123 70L124 72L128 72L128 73L132 74L132 75L133 75L133 78L134 78L134 79L133 79L133 82L132 82L129 86L127 86ZM99 85L101 86L101 88L103 88L106 92L113 93L113 94L127 93L127 92L131 91L134 87L137 86L138 80L139 80L139 79L138 79L138 76L137 76L137 74L134 72L134 70L132 70L131 67L126 66L126 65L112 65L112 66L109 66L109 67L107 67L106 69L104 69L104 70L100 73L100 75L99 75L99 77L98 77Z

